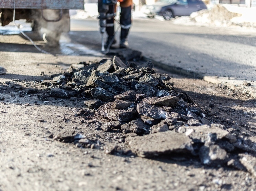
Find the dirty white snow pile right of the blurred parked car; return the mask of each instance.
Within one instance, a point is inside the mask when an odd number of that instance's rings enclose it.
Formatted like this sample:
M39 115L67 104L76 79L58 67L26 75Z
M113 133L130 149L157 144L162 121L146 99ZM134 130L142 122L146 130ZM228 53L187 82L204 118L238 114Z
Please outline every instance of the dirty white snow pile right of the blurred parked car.
M217 4L210 10L194 12L190 16L176 18L173 22L183 25L256 27L256 7Z

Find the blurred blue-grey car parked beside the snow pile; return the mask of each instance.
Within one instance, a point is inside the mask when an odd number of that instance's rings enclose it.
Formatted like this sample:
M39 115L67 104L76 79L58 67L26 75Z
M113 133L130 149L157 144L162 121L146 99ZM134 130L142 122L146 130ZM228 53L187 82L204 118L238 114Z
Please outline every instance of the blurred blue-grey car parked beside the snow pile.
M207 9L202 0L159 0L155 4L142 6L142 12L148 17L160 15L166 20L175 16L189 16L202 9Z

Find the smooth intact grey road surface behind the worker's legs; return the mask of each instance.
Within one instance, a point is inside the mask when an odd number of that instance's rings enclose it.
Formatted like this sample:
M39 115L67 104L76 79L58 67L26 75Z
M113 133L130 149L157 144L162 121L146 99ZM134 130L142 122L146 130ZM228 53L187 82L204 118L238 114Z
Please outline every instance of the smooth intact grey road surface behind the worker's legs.
M97 20L72 20L71 30L81 32L81 43L100 50ZM136 19L129 44L144 56L166 65L206 76L251 80L256 76L255 30L182 26L157 19Z

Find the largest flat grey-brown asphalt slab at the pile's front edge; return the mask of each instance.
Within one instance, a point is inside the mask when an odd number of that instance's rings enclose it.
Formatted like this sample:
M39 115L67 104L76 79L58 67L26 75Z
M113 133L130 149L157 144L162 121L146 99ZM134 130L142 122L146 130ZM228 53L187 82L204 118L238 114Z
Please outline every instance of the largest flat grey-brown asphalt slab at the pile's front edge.
M142 137L128 137L126 142L133 152L144 158L152 158L162 154L193 153L191 139L182 133L173 131L154 133Z

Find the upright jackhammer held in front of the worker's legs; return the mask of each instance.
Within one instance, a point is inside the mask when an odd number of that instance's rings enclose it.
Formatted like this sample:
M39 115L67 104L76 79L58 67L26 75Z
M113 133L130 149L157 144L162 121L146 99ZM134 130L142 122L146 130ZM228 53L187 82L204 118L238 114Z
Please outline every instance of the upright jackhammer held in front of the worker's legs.
M107 13L109 10L109 5L114 5L117 3L117 0L98 0L98 13L100 16L98 19L100 20L100 33L101 33L101 51L105 51L104 47L104 33L106 31L106 21L107 19L111 19L116 16L116 13L113 11L112 14Z

